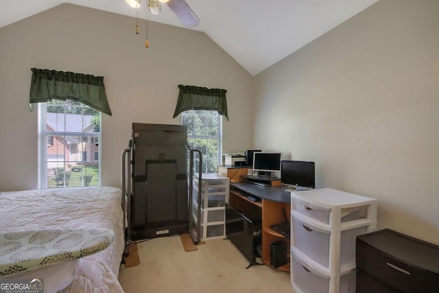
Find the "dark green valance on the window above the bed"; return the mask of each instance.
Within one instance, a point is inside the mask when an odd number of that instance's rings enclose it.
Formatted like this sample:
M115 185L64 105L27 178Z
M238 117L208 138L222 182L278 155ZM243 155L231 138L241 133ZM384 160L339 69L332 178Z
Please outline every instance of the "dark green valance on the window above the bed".
M71 99L111 116L104 77L83 73L32 68L29 103Z

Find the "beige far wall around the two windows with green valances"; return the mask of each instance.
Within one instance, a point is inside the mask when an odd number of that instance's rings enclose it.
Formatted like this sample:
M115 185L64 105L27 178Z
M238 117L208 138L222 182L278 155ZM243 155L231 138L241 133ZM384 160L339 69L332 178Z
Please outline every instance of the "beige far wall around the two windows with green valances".
M0 29L0 190L37 188L37 111L29 111L32 67L104 76L112 117L102 119L102 185L119 186L132 122L172 119L178 84L226 89L223 150L252 143L252 76L206 34L64 4ZM248 131L250 129L250 131Z

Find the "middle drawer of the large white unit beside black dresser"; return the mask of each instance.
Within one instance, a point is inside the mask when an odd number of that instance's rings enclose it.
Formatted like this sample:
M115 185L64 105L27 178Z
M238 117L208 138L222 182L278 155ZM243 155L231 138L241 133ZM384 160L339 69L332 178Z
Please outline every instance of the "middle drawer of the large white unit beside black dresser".
M329 252L331 248L331 231L317 228L312 224L299 220L292 213L294 246L302 253L329 268ZM355 264L355 238L367 232L367 226L352 228L340 233L340 266ZM334 236L335 237L335 236ZM337 257L334 255L333 257Z

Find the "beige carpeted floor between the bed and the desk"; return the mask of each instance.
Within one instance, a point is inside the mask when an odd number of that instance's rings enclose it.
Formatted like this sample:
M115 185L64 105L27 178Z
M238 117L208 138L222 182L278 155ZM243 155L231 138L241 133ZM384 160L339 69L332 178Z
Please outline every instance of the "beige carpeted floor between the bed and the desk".
M179 236L159 237L137 249L139 265L119 272L126 293L294 292L289 273L268 266L246 269L248 261L228 240L210 239L187 252Z

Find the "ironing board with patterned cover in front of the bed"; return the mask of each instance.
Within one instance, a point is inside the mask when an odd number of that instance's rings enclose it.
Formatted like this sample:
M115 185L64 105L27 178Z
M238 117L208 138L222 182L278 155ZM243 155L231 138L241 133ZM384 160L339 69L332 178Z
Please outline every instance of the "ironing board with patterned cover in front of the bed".
M104 250L115 234L108 229L49 229L0 234L0 276L36 270Z

